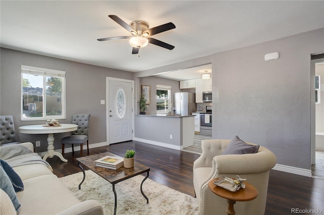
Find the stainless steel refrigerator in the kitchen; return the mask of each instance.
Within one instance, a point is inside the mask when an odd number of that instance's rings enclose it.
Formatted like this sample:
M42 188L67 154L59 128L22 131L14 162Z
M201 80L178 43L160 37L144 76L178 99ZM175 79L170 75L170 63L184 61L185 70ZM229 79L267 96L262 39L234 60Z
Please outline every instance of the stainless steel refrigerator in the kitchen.
M195 93L176 92L173 107L176 108L175 114L191 115L191 113L196 112Z

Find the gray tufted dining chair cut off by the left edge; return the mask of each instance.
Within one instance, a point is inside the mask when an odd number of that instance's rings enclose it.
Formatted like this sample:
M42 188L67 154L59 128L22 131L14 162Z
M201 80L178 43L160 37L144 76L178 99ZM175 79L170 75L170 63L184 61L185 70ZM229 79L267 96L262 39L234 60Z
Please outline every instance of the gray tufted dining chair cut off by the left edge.
M7 143L20 143L16 142L16 132L13 116L0 116L0 130L0 145Z

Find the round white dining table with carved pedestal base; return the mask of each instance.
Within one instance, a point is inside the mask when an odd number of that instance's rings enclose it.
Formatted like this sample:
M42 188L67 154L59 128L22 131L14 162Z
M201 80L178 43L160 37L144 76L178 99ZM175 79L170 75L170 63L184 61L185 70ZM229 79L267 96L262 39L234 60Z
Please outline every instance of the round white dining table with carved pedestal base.
M61 126L48 126L48 125L29 125L19 127L20 133L24 134L48 134L47 142L47 153L43 159L46 160L48 157L52 158L54 155L58 156L63 162L67 162L67 159L63 155L54 150L54 135L55 133L64 133L77 130L77 125L74 124L61 124Z

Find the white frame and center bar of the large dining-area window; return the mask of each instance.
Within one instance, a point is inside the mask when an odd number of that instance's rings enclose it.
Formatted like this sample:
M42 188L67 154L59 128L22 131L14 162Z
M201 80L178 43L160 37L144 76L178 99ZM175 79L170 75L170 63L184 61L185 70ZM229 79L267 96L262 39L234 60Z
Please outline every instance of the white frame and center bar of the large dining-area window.
M23 117L23 74L32 74L32 75L39 75L43 76L43 117L29 117L25 118ZM62 94L61 94L61 102L62 102L62 114L56 115L56 116L46 116L46 77L56 77L56 78L62 78ZM30 67L30 66L24 66L21 65L21 104L20 104L20 117L21 121L39 121L39 120L49 120L49 119L66 119L66 95L65 95L65 71L59 71L59 70L51 70L51 69L45 69L45 68L37 68L37 67Z

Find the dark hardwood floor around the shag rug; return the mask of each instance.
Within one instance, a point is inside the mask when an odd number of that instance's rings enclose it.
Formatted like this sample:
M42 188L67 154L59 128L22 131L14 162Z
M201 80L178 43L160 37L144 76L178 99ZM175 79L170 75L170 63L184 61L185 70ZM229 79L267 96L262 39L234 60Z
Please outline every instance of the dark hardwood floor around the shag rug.
M135 162L150 167L149 178L182 193L194 196L192 165L199 154L154 146L137 141L91 148L90 154L109 151L124 156L127 149L136 151ZM84 150L84 155L87 151ZM79 157L79 151L74 154ZM53 172L63 177L80 172L72 153L65 153L67 163L57 156L48 158ZM291 214L292 208L320 209L324 213L324 180L271 170L265 214ZM304 213L305 214L305 213ZM306 213L308 214L308 213Z

